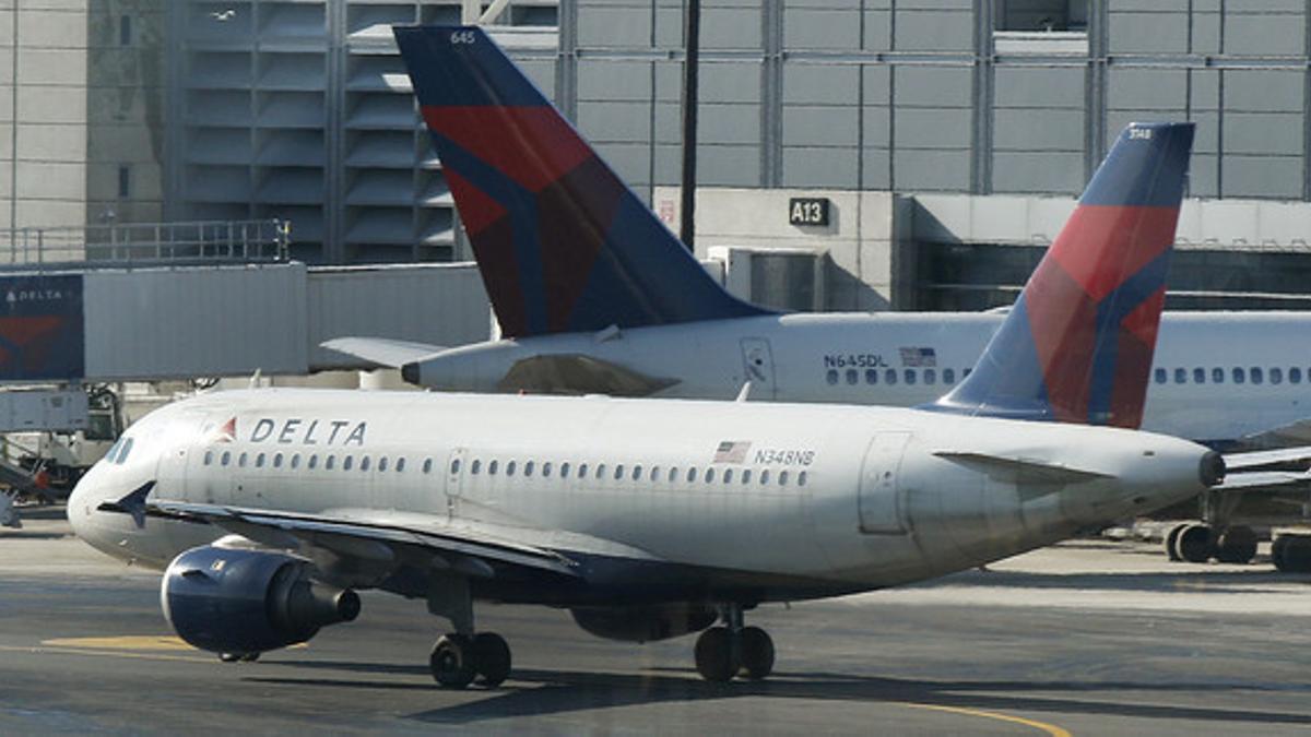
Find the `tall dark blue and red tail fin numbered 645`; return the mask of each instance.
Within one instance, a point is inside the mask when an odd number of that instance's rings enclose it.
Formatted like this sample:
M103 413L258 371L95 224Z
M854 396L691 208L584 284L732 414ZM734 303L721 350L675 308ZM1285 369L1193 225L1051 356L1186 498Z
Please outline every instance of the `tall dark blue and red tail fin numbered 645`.
M481 29L393 31L502 334L768 312L712 279Z

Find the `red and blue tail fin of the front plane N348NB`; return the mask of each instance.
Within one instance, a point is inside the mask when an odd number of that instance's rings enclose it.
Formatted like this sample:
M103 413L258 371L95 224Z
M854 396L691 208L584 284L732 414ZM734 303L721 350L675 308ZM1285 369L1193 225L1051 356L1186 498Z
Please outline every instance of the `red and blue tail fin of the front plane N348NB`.
M1133 123L974 371L932 409L1138 428L1192 123Z

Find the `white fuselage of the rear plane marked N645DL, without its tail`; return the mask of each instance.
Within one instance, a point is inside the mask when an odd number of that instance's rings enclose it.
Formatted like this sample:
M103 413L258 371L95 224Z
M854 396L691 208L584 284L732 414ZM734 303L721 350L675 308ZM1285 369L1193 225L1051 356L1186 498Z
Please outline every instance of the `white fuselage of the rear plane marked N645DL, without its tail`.
M764 315L450 349L416 383L514 391L502 378L543 355L586 355L669 383L652 396L915 407L969 374L1004 313ZM1311 416L1311 345L1289 312L1167 312L1143 429L1215 446Z

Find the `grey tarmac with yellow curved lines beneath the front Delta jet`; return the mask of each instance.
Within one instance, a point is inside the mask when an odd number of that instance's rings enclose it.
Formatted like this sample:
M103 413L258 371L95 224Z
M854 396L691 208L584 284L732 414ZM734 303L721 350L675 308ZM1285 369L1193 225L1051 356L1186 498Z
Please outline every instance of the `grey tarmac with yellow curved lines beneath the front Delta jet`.
M1075 542L927 585L749 614L779 649L762 683L703 682L692 637L594 639L566 612L479 610L515 667L435 687L442 623L363 595L359 620L256 664L172 637L157 573L69 536L0 531L0 734L978 733L1290 734L1311 729L1311 576L1169 564Z

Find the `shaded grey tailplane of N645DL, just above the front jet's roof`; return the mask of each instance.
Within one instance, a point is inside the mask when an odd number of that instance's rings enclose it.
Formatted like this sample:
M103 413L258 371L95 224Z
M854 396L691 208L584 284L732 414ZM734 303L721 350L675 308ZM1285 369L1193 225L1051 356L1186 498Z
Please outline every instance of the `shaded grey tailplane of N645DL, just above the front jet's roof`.
M678 379L648 376L582 354L534 355L515 362L497 384L502 392L650 396Z

